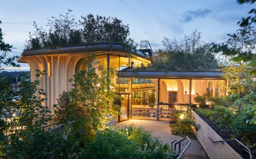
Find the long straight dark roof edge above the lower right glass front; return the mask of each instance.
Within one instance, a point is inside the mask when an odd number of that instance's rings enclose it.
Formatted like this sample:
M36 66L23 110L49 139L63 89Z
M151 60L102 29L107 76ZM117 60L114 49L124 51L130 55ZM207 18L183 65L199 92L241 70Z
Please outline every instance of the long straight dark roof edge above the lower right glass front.
M118 72L119 78L150 78L150 79L223 79L222 72Z

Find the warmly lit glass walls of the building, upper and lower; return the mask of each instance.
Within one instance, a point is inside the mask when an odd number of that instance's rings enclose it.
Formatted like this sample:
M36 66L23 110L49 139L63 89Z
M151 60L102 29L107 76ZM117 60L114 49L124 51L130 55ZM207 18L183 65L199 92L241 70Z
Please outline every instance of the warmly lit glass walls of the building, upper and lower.
M140 61L141 60L141 61ZM88 69L89 57L77 62L76 71ZM108 66L114 70L129 70L141 65L143 59L128 58L113 55L96 56L91 61L93 67L101 65L104 69ZM149 75L150 76L150 75ZM149 79L149 78L118 78L112 79L116 87L116 93L121 101L116 101L121 106L122 115L116 115L115 122L129 119L145 119L172 121L173 114L177 110L186 111L190 103L197 106L194 101L197 95L210 95L224 97L219 83L225 83L222 79ZM152 98L152 95L154 98ZM151 101L151 102L150 102ZM153 104L152 104L153 101ZM209 103L206 103L209 104Z

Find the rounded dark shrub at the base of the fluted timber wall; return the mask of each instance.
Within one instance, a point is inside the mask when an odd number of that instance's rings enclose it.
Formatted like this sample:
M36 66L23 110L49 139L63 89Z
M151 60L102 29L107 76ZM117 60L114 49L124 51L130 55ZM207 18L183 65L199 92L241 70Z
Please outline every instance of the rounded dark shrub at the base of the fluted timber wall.
M69 92L63 91L60 98L57 99L58 105L54 107L53 123L70 122L73 121L74 116L78 114L74 103L71 102L71 95Z

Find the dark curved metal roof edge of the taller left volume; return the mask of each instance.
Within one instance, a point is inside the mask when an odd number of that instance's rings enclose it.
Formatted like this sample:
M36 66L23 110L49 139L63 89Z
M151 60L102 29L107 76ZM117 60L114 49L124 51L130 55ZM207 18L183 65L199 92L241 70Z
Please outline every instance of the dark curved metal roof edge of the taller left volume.
M22 60L24 57L29 56L40 56L40 55L53 55L53 54L70 54L70 53L92 53L92 52L100 52L101 54L115 54L115 55L123 55L128 56L127 52L122 44L118 43L101 43L101 44L91 44L91 45L83 45L83 46L72 46L72 47L58 47L54 49L37 49L37 50L28 50L24 51L20 54L17 62L26 62ZM147 54L136 50L137 57L149 59Z

